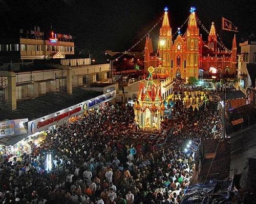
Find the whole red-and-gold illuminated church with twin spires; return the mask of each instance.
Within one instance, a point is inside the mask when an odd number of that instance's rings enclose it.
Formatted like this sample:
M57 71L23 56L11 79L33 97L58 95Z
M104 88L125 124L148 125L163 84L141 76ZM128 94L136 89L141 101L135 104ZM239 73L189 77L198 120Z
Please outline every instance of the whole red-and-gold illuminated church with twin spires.
M191 7L186 32L182 35L178 29L178 36L173 41L167 8L165 8L162 26L160 28L157 53L154 52L152 38L147 37L144 48L144 71L150 66L155 69L157 78L174 79L181 77L199 77L199 74L209 73L210 67L215 67L220 74L235 74L237 63L236 36L232 41L231 51L220 46L214 22L210 27L207 42L203 41L199 32L195 8ZM201 75L200 74L200 75ZM153 73L154 75L154 73Z

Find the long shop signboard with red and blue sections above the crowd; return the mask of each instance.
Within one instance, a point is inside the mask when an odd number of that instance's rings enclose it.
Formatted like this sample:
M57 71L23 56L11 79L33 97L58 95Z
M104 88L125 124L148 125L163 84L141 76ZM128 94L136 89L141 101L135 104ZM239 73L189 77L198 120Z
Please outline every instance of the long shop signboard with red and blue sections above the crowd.
M56 125L64 120L67 120L70 117L82 114L84 111L89 108L93 108L101 103L108 102L114 99L116 96L116 90L106 93L104 95L98 96L91 100L83 101L79 104L73 105L71 107L59 110L48 116L35 119L28 122L28 134L34 134L38 131L47 130L49 127Z

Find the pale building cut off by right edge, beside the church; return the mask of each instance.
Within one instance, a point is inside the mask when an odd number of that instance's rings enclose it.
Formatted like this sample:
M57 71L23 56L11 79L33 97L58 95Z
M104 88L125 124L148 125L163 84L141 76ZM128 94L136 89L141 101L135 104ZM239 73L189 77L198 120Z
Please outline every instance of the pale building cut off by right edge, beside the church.
M238 55L238 85L246 91L255 87L256 78L256 38L248 39L239 44L241 53Z

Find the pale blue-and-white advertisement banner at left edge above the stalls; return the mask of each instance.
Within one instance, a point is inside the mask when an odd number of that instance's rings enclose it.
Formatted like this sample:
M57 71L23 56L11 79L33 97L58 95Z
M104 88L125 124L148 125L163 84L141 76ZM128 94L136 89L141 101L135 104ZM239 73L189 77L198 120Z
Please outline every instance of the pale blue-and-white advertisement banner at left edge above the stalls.
M0 138L8 137L16 134L28 133L24 123L27 123L28 119L16 119L0 122Z

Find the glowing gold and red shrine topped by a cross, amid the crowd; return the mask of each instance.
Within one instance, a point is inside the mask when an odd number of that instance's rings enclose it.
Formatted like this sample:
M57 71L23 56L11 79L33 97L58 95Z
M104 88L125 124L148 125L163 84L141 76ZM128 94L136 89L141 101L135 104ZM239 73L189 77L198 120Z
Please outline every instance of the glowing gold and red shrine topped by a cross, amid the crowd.
M164 104L159 81L154 82L154 68L148 68L147 83L140 82L138 98L134 104L135 122L142 129L161 130L161 117L164 115Z

